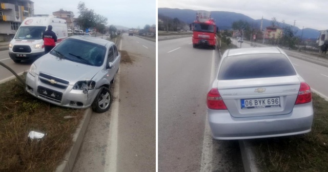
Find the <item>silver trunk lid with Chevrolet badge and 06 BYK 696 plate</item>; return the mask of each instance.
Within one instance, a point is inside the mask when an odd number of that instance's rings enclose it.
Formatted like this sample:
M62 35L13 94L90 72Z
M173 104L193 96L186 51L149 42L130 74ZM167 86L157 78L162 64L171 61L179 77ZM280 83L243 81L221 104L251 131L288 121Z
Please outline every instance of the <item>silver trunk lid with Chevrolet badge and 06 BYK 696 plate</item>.
M297 76L219 80L218 91L233 117L283 115L293 111Z

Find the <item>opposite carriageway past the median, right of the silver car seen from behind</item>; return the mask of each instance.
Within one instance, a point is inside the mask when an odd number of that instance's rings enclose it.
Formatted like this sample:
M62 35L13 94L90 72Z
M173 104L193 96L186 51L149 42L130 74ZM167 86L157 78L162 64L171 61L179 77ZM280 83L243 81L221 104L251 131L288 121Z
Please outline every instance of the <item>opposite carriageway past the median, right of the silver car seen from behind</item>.
M240 47L240 42L237 42L236 44L236 39L233 39L232 43ZM244 41L241 47L250 48L251 45L248 41ZM299 52L284 49L283 51L285 51L286 54L290 57L297 73L306 81L306 83L310 85L311 89L314 89L328 97L328 68L297 58L297 56L301 54Z

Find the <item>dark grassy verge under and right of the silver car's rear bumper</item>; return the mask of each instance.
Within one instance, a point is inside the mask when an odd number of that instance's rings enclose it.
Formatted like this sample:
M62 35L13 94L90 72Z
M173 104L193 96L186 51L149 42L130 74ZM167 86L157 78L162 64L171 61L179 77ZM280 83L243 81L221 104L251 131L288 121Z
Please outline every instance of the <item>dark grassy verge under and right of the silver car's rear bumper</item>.
M313 94L314 120L308 134L252 140L264 171L328 171L328 102Z

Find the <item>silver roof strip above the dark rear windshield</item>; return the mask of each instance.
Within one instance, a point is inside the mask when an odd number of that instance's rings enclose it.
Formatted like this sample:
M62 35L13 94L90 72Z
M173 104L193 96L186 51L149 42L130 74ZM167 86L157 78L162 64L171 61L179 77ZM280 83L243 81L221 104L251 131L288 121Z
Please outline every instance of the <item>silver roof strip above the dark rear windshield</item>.
M227 50L226 56L245 55L245 54L262 54L262 53L276 53L285 54L278 47L256 47L256 48L240 48ZM226 54L226 53L224 53Z

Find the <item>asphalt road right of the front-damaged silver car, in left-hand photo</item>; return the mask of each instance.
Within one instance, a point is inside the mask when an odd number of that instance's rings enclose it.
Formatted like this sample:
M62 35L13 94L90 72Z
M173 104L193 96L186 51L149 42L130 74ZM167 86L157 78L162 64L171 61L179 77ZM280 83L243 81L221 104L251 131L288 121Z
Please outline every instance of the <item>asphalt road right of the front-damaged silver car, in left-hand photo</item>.
M118 106L92 114L73 171L156 169L155 42L124 34L118 49L132 59L120 65Z

